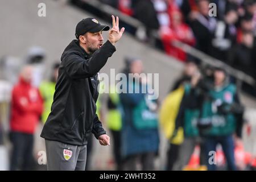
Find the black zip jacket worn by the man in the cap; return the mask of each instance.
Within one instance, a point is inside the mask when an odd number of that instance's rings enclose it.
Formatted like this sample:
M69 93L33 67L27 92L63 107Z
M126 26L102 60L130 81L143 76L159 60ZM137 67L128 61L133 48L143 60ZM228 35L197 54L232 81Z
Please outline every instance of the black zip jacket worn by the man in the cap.
M84 145L92 132L96 138L105 134L96 114L97 73L115 52L107 41L89 56L73 40L61 56L59 77L51 113L41 137L73 145Z

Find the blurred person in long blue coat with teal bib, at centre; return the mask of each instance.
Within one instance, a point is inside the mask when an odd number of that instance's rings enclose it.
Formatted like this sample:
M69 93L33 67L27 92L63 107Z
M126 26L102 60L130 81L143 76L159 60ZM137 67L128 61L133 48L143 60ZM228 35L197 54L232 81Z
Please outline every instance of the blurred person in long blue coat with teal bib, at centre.
M154 100L148 100L147 94L142 93L146 81L138 74L143 72L142 61L126 59L124 71L127 81L127 93L120 94L123 108L122 115L122 156L125 158L125 170L154 170L154 160L158 154L159 135L158 119L155 113L157 105ZM129 73L138 73L130 77ZM130 80L130 81L129 81ZM123 80L125 82L125 80ZM129 93L133 88L133 93ZM139 89L139 93L135 90Z

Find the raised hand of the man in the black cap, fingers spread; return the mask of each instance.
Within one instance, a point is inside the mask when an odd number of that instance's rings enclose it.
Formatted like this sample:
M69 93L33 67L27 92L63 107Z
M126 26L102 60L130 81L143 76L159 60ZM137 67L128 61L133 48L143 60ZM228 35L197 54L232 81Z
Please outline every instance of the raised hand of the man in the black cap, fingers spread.
M112 28L109 31L109 42L111 42L113 45L114 43L118 42L118 40L123 35L123 32L125 31L125 28L121 28L119 31L119 18L117 16L117 19L115 20L115 16L112 15Z

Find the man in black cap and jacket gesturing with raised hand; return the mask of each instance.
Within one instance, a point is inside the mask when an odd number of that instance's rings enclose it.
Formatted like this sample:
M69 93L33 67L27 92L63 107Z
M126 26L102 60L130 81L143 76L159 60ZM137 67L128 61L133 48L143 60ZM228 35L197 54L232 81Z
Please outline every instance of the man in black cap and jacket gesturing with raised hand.
M82 19L76 26L76 38L61 56L51 113L41 137L46 140L48 170L85 170L86 144L90 133L103 146L110 145L96 114L98 75L115 52L119 31L118 16L112 15L113 28L103 43L102 31L108 26L97 19Z

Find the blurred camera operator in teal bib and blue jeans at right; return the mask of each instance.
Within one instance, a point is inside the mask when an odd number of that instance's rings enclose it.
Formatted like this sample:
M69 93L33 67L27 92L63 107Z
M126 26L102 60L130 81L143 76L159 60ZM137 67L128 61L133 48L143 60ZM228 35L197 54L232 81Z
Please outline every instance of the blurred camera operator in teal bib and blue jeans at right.
M222 68L213 69L212 81L200 75L193 76L191 85L191 105L200 108L197 127L204 138L208 170L216 170L216 155L212 161L210 151L216 151L218 143L224 151L228 170L236 170L233 135L236 136L236 142L240 142L243 122L243 106L236 86L230 84Z

